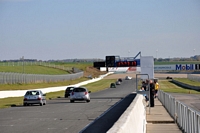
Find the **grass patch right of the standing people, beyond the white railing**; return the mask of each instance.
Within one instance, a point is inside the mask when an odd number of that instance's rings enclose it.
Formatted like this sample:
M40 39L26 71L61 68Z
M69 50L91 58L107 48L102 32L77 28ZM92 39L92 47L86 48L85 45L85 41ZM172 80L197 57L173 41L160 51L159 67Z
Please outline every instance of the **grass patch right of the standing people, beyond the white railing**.
M168 93L200 94L199 91L179 87L168 80L160 80L159 84L160 84L160 90L163 90L164 92Z

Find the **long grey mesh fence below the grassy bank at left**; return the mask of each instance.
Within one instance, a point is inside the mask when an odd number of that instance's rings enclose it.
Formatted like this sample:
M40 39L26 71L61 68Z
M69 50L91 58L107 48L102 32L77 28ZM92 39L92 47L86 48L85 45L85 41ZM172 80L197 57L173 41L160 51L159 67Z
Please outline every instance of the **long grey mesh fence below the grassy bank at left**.
M43 75L0 72L0 84L60 82L83 77L83 72L64 75Z

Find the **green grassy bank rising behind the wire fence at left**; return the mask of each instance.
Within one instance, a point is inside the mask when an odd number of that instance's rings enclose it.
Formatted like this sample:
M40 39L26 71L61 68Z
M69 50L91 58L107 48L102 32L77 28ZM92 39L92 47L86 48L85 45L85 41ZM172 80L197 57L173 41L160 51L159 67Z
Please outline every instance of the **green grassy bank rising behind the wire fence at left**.
M0 72L15 72L23 73L22 66L0 66ZM60 75L69 74L67 71L61 69L55 69L45 66L24 66L24 73L27 74L46 74L46 75Z

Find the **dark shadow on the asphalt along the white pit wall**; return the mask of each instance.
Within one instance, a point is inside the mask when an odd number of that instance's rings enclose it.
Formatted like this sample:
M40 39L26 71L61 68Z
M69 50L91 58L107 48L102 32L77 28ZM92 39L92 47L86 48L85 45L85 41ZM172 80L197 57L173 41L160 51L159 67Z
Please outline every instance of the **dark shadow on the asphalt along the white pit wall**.
M115 106L108 109L108 111L101 117L94 120L80 133L106 133L119 117L124 113L127 107L131 104L136 94L130 94Z

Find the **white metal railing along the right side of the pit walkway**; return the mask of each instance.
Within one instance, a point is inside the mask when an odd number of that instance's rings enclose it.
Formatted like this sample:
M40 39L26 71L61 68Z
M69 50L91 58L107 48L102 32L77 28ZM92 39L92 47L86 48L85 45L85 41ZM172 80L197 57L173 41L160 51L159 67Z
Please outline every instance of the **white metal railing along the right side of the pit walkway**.
M159 90L158 99L185 133L200 133L200 112Z

